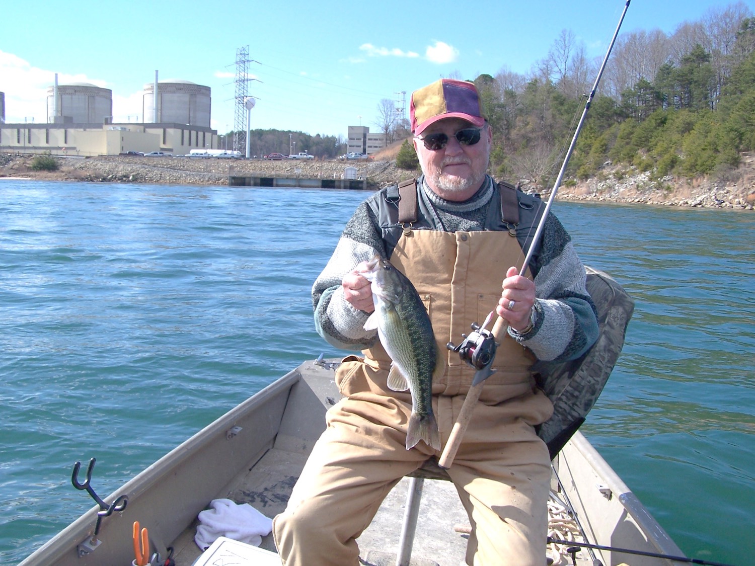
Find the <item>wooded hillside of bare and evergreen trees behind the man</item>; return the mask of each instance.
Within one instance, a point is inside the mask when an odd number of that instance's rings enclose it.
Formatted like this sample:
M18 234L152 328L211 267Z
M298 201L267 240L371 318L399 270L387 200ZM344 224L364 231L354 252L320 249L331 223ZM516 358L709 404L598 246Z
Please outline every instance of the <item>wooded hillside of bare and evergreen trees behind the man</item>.
M492 171L547 187L593 86L588 60L563 30L527 75L480 75L493 128ZM755 18L743 3L712 9L672 35L659 29L618 38L569 165L600 174L607 161L667 174L726 176L755 149Z

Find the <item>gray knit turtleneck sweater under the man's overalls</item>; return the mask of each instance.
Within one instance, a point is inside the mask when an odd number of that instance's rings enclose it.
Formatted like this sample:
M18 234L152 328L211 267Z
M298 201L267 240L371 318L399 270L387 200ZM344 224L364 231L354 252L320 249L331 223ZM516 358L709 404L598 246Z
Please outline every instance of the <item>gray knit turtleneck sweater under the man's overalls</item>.
M419 182L421 198L427 210L433 211L433 229L445 232L486 229L488 203L498 190L490 177L476 195L461 203L440 198L422 177ZM354 309L345 300L341 280L358 263L370 260L376 253L390 257L393 250L388 249L383 238L384 226L380 225L376 214L385 196L386 189L383 189L359 205L312 288L317 331L338 348L364 349L377 340L376 331L363 328L368 314ZM535 226L520 225L519 231L534 233ZM569 234L553 214L548 214L530 270L535 276L538 321L527 334L509 329L510 336L544 361L578 358L598 335L595 306L585 289L584 266Z

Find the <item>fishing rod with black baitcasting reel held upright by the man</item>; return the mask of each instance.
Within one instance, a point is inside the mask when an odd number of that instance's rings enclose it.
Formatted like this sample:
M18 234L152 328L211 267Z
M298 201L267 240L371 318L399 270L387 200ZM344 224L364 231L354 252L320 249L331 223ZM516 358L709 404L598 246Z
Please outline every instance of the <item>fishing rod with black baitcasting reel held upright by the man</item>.
M572 143L569 144L569 149L567 149L566 151L566 156L561 165L561 170L559 171L558 177L556 177L556 182L553 183L553 189L550 192L550 197L548 198L547 204L545 205L545 210L540 218L540 222L538 223L538 229L535 230L535 235L532 236L532 242L529 245L529 250L525 255L525 260L524 263L522 263L522 269L519 270L519 274L525 272L529 261L532 259L532 254L535 251L535 247L538 243L538 240L540 239L541 233L543 232L543 226L545 225L545 220L548 216L548 212L550 211L550 207L553 205L553 198L556 197L556 192L558 192L559 186L561 185L561 180L563 179L563 176L565 174L566 166L569 165L569 158L572 157L572 153L574 152L575 146L577 145L577 138L579 137L582 126L584 125L584 120L585 118L587 118L587 111L590 109L590 103L592 103L593 98L595 97L595 93L598 90L600 78L602 77L603 72L606 70L609 56L614 44L616 43L616 38L618 38L618 32L619 29L621 29L621 23L624 22L624 16L627 15L627 9L629 8L630 2L631 0L627 0L626 4L624 4L624 11L621 12L621 17L618 20L618 25L616 26L616 30L611 39L611 43L609 44L608 51L606 51L606 56L603 57L600 69L598 70L598 75L595 78L595 83L593 84L593 88L587 97L587 102L584 105L584 110L582 111L581 118L579 119L579 122L577 124L574 136L572 137ZM482 392L482 385L494 371L492 370L491 366L495 358L495 342L496 339L500 337L501 334L503 334L503 332L506 330L506 321L504 320L504 318L499 316L495 321L492 332L488 331L485 329L485 327L488 325L488 322L492 318L492 315L493 313L491 312L491 315L488 316L488 320L485 321L485 324L483 324L482 327L472 325L473 332L469 336L462 335L464 337L464 341L459 344L459 346L454 346L452 343L448 343L448 349L459 352L461 359L467 362L467 364L471 365L473 368L476 368L477 371L472 380L472 386L470 387L469 392L467 392L467 397L464 398L464 405L462 405L461 407L459 417L456 420L456 423L454 423L453 428L451 429L451 435L448 437L448 441L445 443L445 447L443 448L442 454L440 455L440 458L438 460L439 466L444 469L451 467L451 463L453 463L454 458L456 457L456 452L461 445L461 439L464 437L464 432L467 430L467 426L469 425L470 419L472 418L472 412L477 405L477 401L479 400L479 395ZM479 355L479 352L485 352L485 355Z

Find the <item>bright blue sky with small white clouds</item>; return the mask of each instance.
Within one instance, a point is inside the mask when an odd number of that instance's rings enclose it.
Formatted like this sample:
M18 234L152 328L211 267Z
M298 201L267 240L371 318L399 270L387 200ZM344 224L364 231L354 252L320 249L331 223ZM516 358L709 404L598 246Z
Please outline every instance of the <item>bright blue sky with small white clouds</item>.
M720 0L632 0L621 32L667 33ZM742 2L755 12L755 0ZM527 73L563 29L601 59L625 0L478 2L4 2L0 92L5 122L47 122L47 88L112 90L114 122L141 122L144 85L181 79L211 88L211 128L233 130L236 53L248 48L251 128L347 137L380 131L381 100L443 77ZM149 116L148 116L149 119Z

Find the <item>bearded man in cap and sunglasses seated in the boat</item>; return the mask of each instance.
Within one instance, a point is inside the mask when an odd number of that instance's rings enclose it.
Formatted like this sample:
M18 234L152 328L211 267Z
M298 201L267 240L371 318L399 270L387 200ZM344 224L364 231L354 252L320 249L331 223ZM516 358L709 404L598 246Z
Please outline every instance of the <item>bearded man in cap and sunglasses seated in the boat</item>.
M411 130L423 172L410 187L415 218L399 223L397 203L405 196L396 187L377 192L356 210L313 286L319 334L334 346L361 348L365 357L349 356L338 368L344 398L328 411L328 428L274 520L276 545L289 566L357 564L355 539L390 489L439 456L424 441L405 449L411 397L387 387L390 358L376 332L364 329L374 306L361 272L377 253L407 275L429 306L446 365L433 381L443 444L474 374L445 344L458 343L494 307L507 321L497 371L485 381L448 475L473 527L467 564L543 566L550 458L535 426L553 405L530 368L535 358L576 358L596 340L584 267L549 215L525 272L534 282L519 275L540 201L499 187L485 173L492 134L472 83L442 79L414 91Z

